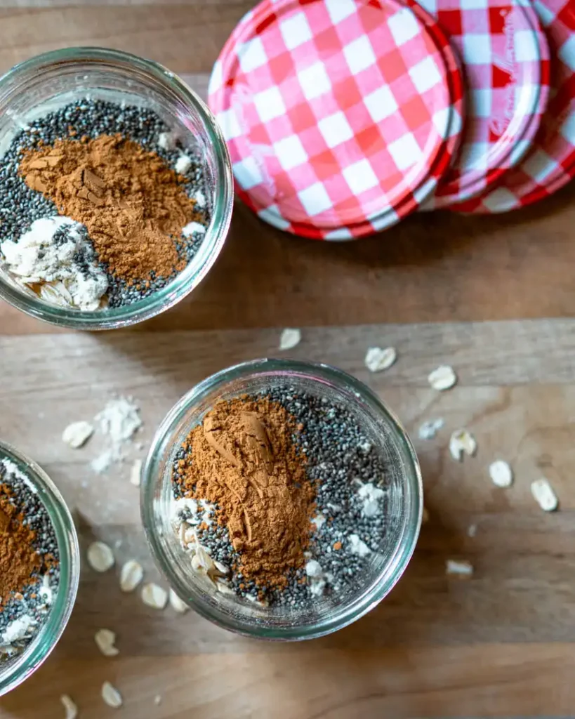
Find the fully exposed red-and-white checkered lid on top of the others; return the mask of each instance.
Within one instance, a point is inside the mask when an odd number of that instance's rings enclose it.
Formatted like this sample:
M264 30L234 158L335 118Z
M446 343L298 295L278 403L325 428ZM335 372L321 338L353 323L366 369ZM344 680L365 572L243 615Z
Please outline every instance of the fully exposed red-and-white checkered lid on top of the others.
M234 29L208 103L236 192L262 219L352 239L418 208L459 145L463 85L403 0L264 0Z

